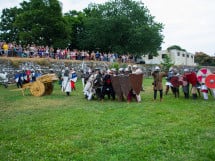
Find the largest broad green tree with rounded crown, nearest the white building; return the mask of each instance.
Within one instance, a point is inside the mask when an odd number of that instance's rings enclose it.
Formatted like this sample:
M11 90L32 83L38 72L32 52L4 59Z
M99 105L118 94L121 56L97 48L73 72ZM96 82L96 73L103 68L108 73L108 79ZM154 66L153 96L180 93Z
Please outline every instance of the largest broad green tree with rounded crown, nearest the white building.
M91 4L84 13L84 29L78 37L81 48L157 55L163 41L163 25L156 23L140 2L114 0Z

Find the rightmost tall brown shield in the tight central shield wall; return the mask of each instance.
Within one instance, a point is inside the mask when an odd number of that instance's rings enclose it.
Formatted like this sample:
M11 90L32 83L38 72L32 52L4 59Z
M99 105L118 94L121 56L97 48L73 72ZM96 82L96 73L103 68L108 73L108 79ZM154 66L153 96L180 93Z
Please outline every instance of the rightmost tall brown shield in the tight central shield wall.
M143 74L130 74L129 81L131 83L132 89L136 94L140 94L143 83Z

